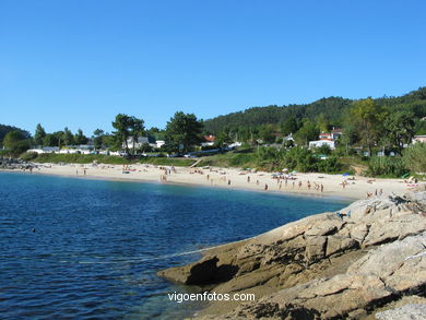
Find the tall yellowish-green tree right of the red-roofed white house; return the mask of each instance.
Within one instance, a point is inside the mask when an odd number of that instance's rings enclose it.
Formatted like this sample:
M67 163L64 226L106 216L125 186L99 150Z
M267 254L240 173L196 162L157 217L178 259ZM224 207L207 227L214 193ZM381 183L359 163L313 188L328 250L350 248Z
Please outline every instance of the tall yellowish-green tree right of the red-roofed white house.
M371 98L358 100L351 109L352 122L360 133L360 141L371 154L371 147L377 143L382 119L381 107Z

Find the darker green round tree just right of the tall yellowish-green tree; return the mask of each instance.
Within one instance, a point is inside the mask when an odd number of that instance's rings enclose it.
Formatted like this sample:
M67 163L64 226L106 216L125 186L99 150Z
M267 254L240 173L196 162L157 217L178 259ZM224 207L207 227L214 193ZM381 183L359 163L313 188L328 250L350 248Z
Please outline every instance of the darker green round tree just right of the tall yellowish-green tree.
M413 117L410 111L397 111L388 114L384 118L384 135L392 145L398 147L399 154L402 154L404 144L410 143L414 137Z

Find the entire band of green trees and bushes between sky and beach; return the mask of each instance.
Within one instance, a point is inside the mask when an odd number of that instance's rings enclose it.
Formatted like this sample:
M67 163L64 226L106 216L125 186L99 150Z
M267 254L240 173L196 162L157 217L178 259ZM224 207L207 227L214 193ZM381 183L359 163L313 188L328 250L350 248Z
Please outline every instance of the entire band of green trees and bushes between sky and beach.
M142 118L119 114L111 127L111 132L96 129L86 135L81 129L72 133L68 128L46 132L39 123L31 135L15 127L0 126L0 143L4 146L1 153L19 156L34 146L68 147L92 143L95 151L123 150L134 161L141 153L155 152L157 157L164 157L215 149L222 152L204 156L200 165L268 170L287 167L322 173L353 173L362 168L366 175L386 177L426 173L426 143L412 143L415 135L426 134L426 87L399 97L328 97L306 105L253 107L208 120L177 111L164 129L147 129ZM308 149L309 142L318 140L320 133L338 128L342 134L336 139L335 149L327 145ZM206 134L215 135L214 145L201 147ZM292 139L287 139L289 134ZM140 137L147 137L150 142L163 140L165 144L157 149L149 143L135 147L131 141L138 141ZM238 150L226 149L234 142L242 145ZM94 157L78 159L75 156L43 155L37 158L24 155L40 162L60 158L86 162ZM111 157L102 159L117 162ZM190 163L180 162L180 165Z

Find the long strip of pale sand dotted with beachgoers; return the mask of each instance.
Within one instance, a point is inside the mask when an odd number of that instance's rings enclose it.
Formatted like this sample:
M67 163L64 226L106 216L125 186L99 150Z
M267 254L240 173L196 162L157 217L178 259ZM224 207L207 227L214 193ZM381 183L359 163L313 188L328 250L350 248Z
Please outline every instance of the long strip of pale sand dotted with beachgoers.
M359 176L299 174L293 180L276 179L271 173L249 173L237 168L188 168L162 167L146 164L36 164L33 174L57 175L105 180L150 181L159 183L185 183L214 188L242 189L262 192L296 193L315 197L342 197L365 199L370 195L401 193L426 188L425 182L410 182L403 179L374 179ZM31 174L28 170L25 173ZM309 186L310 185L310 186ZM322 188L321 188L322 186ZM322 191L321 191L322 189Z

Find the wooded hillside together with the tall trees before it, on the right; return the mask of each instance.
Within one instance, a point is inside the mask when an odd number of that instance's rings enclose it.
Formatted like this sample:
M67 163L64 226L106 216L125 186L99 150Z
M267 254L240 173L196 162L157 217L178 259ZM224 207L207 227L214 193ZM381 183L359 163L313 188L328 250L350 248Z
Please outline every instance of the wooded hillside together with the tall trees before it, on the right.
M282 143L293 133L306 146L320 132L343 129L341 145L368 152L386 149L399 154L414 134L426 134L426 87L401 97L322 98L306 105L255 107L204 121L204 130L233 140Z

